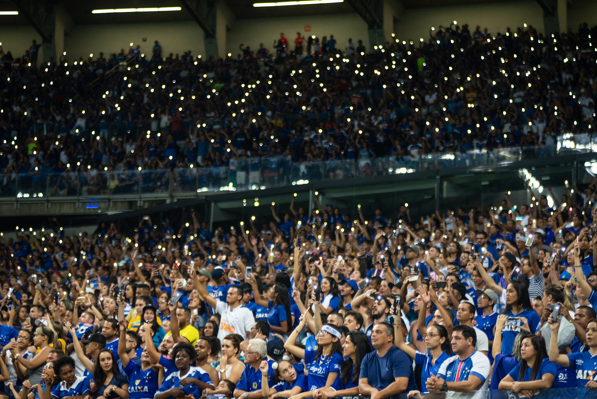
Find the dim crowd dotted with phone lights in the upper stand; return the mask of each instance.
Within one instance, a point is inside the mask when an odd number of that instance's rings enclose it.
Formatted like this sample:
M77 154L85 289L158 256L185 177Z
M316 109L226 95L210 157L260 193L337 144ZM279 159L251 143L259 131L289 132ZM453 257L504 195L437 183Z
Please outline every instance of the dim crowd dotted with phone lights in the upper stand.
M282 34L271 52L241 45L238 57L217 60L162 57L157 42L152 56L136 45L39 67L3 54L0 169L8 181L91 173L75 185L116 170L104 184L116 186L122 171L233 168L244 158L411 160L504 147L553 155L557 135L595 129L595 28L430 33L370 51L300 35L293 50ZM108 73L122 60L127 70ZM163 190L155 180L151 189Z

